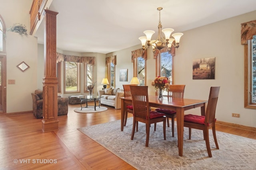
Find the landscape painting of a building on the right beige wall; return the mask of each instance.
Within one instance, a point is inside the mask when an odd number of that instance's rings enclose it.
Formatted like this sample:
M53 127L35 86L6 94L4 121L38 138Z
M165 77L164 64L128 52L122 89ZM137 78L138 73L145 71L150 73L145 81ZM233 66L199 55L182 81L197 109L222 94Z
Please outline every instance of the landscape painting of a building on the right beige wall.
M193 61L193 80L215 79L215 57Z

